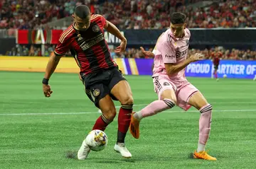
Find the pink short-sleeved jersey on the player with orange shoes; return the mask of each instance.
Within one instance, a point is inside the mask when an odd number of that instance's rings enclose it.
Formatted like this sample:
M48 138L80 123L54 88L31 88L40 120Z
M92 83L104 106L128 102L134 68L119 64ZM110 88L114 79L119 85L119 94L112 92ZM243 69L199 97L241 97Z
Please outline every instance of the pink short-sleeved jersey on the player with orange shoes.
M186 28L184 30L185 36L183 38L176 38L171 32L171 29L166 30L156 42L153 77L160 74L166 74L164 64L178 64L185 60L188 56L188 41L191 37L190 31ZM185 69L179 71L177 74L169 76L172 81L186 81Z

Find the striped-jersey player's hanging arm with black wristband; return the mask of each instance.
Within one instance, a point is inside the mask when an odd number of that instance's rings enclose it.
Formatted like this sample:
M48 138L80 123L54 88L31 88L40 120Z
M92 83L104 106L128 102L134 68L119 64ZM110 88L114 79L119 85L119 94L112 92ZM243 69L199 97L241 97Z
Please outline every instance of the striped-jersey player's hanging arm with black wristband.
M53 74L53 72L55 71L58 62L60 61L61 56L57 56L55 54L51 54L50 55L50 59L48 61L48 64L46 66L46 74L43 78L43 94L48 98L50 97L51 93L53 93L53 91L50 90L50 85L48 84L48 81L50 79L50 76Z

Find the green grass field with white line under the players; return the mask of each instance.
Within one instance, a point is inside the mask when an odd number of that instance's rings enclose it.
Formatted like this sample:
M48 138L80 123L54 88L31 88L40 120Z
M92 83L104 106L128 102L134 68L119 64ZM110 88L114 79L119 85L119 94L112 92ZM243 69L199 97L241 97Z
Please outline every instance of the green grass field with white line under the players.
M144 119L141 137L127 134L133 157L113 151L117 117L106 129L109 145L85 161L66 158L78 151L100 114L77 74L54 74L53 95L42 92L42 73L0 71L0 168L255 168L256 83L252 80L188 78L213 105L208 146L218 161L189 158L198 143L199 112L179 107ZM127 76L134 110L155 100L150 76ZM119 106L119 103L115 103Z

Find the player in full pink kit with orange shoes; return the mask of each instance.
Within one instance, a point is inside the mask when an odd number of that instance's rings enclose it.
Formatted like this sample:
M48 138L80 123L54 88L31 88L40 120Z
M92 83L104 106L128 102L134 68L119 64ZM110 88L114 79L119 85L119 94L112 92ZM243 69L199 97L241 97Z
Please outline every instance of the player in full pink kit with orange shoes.
M191 106L201 112L199 119L198 148L193 158L215 161L205 151L206 142L210 134L212 106L203 97L198 89L189 83L185 77L185 68L191 62L203 59L203 55L196 53L188 57L188 41L191 37L186 28L186 16L183 13L171 15L171 28L162 33L156 42L153 52L144 51L145 55L154 57L153 83L154 91L159 100L155 100L139 112L132 115L130 132L134 138L139 139L139 122L144 117L156 115L175 105L188 110Z

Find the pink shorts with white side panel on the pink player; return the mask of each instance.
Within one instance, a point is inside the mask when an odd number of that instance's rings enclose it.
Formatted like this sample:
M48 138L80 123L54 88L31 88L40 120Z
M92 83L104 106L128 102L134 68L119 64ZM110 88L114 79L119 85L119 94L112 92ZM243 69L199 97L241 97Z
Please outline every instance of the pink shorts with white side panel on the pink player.
M177 105L183 110L187 111L191 105L188 104L189 99L196 93L198 89L188 81L171 81L169 76L161 75L156 76L153 79L154 91L158 94L159 100L161 100L161 93L166 89L174 90L176 93Z

